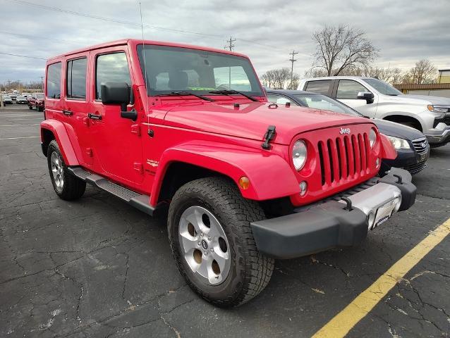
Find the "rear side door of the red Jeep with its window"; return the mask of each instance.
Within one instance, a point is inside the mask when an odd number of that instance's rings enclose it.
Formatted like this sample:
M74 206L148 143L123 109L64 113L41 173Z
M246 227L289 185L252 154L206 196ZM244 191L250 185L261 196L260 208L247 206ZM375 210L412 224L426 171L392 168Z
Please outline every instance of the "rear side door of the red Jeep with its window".
M89 51L75 54L67 58L64 68L63 118L66 130L80 146L82 158L80 162L90 168L92 166L92 139L89 133L87 114L89 113L90 93L87 91L87 72Z

